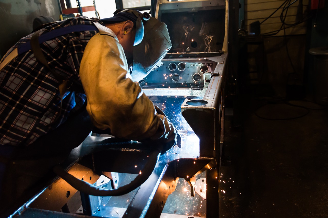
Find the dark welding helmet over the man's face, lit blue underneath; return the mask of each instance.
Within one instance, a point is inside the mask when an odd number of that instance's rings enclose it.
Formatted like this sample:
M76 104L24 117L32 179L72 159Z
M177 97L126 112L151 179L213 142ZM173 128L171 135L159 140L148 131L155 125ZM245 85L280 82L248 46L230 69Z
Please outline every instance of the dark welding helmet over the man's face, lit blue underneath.
M138 10L116 10L112 18L101 19L104 23L131 20L135 29L133 45L133 63L129 66L133 81L139 82L150 71L162 65L162 58L172 47L165 23L160 22L149 13Z

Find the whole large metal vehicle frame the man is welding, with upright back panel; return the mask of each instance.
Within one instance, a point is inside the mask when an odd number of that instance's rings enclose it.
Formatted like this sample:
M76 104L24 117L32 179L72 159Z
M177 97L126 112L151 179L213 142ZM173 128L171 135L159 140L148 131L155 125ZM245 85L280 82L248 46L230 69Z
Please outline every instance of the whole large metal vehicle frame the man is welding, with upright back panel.
M199 194L206 199L202 208L206 204L206 217L219 217L219 172L228 60L227 41L224 40L228 33L226 4L228 1L225 0L157 1L155 17L168 25L172 48L162 59L163 65L140 81L140 86L178 130L181 148L174 146L160 155L149 178L128 193L128 200L124 196L82 194L85 202L83 209L79 210L83 210L84 215L59 212L64 211L63 206L77 190L57 178L22 206L17 216L186 217L162 213L169 195L179 189L179 178L184 178L190 185L191 196L198 197ZM155 146L113 137L89 136L72 150L63 167L95 186L116 188L121 186L122 179L115 184L118 174L113 176L104 172L125 174L125 178L130 179L128 182L132 181L134 175L146 169L151 147ZM98 180L102 174L108 179ZM196 176L202 177L196 180ZM189 194L189 191L184 193ZM116 199L124 204L115 206L112 200Z

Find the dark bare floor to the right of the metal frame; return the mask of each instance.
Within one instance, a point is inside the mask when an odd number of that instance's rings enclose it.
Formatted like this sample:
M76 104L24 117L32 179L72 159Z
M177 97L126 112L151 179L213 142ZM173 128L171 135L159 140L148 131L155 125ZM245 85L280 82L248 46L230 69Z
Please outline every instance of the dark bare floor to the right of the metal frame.
M240 119L226 117L220 217L328 217L327 108L239 97Z

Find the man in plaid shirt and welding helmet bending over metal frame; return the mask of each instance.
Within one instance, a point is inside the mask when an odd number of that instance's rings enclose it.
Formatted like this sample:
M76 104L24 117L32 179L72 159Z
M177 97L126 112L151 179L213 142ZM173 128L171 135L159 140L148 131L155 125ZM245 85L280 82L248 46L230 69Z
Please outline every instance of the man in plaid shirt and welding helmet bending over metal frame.
M130 9L50 23L16 43L0 63L0 214L91 131L174 146L174 126L138 83L171 46L164 23Z

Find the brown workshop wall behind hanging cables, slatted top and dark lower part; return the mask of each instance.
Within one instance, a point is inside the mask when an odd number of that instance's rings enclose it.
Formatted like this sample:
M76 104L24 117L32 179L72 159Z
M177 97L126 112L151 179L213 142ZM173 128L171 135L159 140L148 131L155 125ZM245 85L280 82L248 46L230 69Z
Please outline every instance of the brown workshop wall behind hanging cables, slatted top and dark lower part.
M251 23L255 21L261 23L284 2L284 0L246 0L245 28L250 31ZM298 3L299 1L296 1L288 8L286 23L292 24L297 19L308 18L307 15L311 12L308 9L309 0L303 0L302 7L299 7ZM302 9L302 14L297 13L297 8ZM270 87L271 90L268 90L267 93L261 93L263 95L279 95L281 97L302 95L306 85L304 59L307 52L307 22L286 28L285 33L283 30L275 32L282 27L281 12L282 9L278 9L272 17L260 25L260 34L276 34L262 35L262 38L259 38L256 43L247 45L248 76L251 83Z

